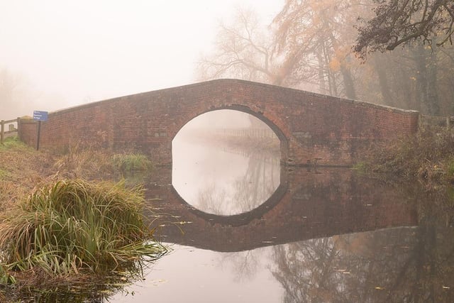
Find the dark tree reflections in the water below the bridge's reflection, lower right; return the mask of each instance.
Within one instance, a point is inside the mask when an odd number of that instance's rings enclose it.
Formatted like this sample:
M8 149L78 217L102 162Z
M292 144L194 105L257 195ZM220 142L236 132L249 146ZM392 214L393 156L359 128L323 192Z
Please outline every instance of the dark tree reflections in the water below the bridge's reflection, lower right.
M272 273L284 302L448 302L453 242L431 224L313 239L276 246Z

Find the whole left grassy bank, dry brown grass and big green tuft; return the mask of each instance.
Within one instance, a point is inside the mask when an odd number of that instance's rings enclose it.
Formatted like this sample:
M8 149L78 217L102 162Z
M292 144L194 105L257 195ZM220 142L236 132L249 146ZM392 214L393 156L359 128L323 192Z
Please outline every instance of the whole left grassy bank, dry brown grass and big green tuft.
M0 299L49 288L102 292L141 277L166 248L145 225L143 191L115 182L143 155L0 145ZM151 210L153 211L153 209Z

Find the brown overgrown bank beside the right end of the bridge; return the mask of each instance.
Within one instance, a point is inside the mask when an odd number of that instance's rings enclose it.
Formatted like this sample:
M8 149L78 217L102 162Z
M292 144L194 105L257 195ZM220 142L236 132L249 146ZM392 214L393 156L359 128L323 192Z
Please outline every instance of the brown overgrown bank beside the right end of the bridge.
M454 130L426 127L416 136L375 146L355 168L404 180L417 177L427 187L454 184Z

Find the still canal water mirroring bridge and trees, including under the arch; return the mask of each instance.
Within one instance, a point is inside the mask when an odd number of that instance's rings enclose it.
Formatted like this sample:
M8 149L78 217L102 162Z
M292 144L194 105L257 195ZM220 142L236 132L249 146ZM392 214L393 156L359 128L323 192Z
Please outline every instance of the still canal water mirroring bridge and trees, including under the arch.
M180 144L146 182L172 252L109 302L453 302L443 194Z

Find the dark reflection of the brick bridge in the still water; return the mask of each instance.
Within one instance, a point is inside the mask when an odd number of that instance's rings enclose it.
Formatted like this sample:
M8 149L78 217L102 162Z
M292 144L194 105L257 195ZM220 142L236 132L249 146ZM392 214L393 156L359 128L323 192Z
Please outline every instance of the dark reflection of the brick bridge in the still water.
M187 204L172 186L172 170L160 167L145 185L146 197L165 215L150 219L162 225L161 241L223 252L418 224L404 192L351 170L281 167L280 180L257 208L219 216Z

